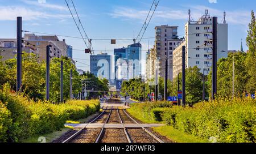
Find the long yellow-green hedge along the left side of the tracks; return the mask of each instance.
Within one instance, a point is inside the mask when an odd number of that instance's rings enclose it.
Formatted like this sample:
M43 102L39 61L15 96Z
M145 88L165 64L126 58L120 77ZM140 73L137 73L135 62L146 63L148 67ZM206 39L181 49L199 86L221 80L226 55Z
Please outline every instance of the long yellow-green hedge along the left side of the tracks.
M72 100L65 104L34 102L0 89L0 142L22 142L30 136L61 130L68 120L86 118L100 110L97 100Z

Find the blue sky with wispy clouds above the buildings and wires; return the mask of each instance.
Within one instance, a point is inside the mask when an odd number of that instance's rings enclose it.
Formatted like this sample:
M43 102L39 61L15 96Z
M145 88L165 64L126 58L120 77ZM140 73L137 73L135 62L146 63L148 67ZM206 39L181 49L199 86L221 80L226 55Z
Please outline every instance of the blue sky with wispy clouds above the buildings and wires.
M65 0L0 0L0 38L16 37L16 16L23 16L23 30L53 33L56 35L77 36L79 31ZM138 35L152 0L73 0L81 22L89 38L133 38ZM71 5L71 1L69 1ZM226 11L226 22L229 24L229 50L240 49L241 38L243 49L247 50L245 38L247 25L250 22L250 11L256 6L255 0L160 0L159 6L151 20L144 37L154 37L156 25L177 25L178 35L184 35L184 25L188 20L188 9L191 9L192 18L197 20L208 9L210 15L218 16L218 22ZM73 8L72 8L72 11ZM59 37L60 39L64 37ZM85 44L81 39L65 38L67 44L73 49L84 49ZM154 39L143 40L142 50L154 45ZM94 50L113 50L132 44L130 40L117 40L116 45L111 45L109 40L93 40ZM100 52L95 52L95 54ZM113 52L107 52L113 54ZM142 52L142 69L146 52ZM77 61L89 64L89 55L82 51L73 51L73 58ZM82 60L85 59L85 60ZM79 69L89 70L89 67L77 63Z

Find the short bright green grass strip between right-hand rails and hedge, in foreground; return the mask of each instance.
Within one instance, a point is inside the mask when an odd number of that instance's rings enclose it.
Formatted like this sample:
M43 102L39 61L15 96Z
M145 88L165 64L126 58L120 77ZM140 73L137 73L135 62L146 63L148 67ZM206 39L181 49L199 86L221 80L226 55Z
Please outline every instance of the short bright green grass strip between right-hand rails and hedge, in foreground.
M208 143L208 140L186 134L185 132L174 129L172 126L153 127L152 129L160 135L166 136L168 139L178 143Z

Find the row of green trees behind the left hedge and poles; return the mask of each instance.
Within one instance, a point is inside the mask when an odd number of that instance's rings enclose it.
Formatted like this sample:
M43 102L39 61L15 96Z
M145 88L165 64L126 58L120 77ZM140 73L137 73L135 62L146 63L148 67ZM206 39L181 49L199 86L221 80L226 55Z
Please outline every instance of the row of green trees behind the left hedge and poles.
M79 93L82 91L82 86L85 83L82 80L89 81L86 85L87 89L94 91L108 91L108 82L106 79L99 79L90 72L84 72L79 75L76 71L76 66L71 59L67 57L52 58L50 62L50 90L49 100L51 102L60 102L60 63L63 60L63 100L67 101L70 98L70 70L72 74L72 93L74 99L79 98ZM0 88L3 84L9 83L13 91L16 90L16 57L1 61L0 56ZM46 99L46 62L39 61L35 54L22 54L22 93L35 101ZM103 92L90 92L88 99L104 95Z

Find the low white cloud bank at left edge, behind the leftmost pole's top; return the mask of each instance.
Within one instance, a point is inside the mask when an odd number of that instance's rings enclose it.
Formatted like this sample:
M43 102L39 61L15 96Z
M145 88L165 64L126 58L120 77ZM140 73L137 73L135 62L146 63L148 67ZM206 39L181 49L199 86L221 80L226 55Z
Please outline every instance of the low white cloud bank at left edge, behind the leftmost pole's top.
M0 20L16 20L17 16L22 16L23 20L36 20L36 19L63 19L70 18L70 15L66 14L48 14L46 12L40 12L18 6L6 6L0 7Z

